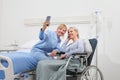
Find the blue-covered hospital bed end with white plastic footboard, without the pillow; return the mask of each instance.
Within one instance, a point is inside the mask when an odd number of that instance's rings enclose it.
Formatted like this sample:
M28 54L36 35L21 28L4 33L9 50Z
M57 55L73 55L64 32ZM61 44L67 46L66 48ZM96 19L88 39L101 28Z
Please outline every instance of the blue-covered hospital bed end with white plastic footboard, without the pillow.
M0 55L0 80L28 80L27 78L32 77L31 71L36 68L33 57L24 52L11 52L7 56L5 54Z

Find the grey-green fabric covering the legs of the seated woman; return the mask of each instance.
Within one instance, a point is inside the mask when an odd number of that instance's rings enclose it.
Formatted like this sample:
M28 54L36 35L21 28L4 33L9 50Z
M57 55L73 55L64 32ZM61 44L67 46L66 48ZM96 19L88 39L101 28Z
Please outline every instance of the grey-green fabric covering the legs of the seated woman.
M39 61L36 69L36 80L49 80L58 71L65 60L42 60Z

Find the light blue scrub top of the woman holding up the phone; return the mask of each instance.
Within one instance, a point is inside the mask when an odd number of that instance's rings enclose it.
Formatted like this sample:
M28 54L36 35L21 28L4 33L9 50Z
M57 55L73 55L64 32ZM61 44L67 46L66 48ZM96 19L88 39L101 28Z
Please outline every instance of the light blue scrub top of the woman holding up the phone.
M45 30L40 31L39 33L40 41L35 44L31 50L31 52L45 52L50 53L52 50L56 49L57 51L60 50L60 38L57 36L55 31L52 30Z

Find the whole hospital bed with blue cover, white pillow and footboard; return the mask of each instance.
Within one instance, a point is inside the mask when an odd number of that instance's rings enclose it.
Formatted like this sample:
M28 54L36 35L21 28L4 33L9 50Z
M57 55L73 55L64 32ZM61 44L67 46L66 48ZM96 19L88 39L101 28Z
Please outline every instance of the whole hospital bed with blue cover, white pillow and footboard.
M33 80L36 62L29 54L37 41L31 40L16 51L0 52L0 80Z

